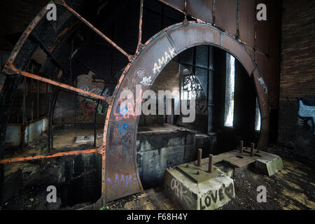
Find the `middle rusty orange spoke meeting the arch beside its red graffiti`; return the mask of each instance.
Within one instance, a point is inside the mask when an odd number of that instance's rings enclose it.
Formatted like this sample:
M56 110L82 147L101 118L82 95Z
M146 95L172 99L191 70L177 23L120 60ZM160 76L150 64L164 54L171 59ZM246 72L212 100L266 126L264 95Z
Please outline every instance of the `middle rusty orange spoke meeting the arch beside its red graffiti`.
M56 86L62 87L64 89L71 90L73 92L78 92L80 94L85 94L85 95L87 95L89 97L94 97L94 98L97 98L97 99L105 100L108 104L111 103L111 97L103 97L103 96L100 96L98 94L94 94L92 92L87 92L85 90L81 90L81 89L73 87L71 85L66 85L66 84L63 84L63 83L59 83L59 82L51 80L49 78L43 78L41 76L29 73L27 71L20 71L12 63L10 63L9 67L10 67L9 69L6 68L6 70L5 70L7 74L13 74L13 73L20 74L22 76L29 77L29 78L34 78L34 79L40 80L40 81L42 81L44 83L49 83L51 85L56 85Z

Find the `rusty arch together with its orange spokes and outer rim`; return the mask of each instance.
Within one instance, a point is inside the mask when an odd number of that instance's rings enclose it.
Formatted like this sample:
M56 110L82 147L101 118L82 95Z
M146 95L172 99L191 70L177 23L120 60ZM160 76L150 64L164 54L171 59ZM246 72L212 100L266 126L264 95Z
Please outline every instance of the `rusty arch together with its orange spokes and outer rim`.
M176 8L169 3L159 0L167 6L171 6L172 8L179 10L181 13L186 15L185 11ZM61 3L60 3L61 2ZM82 21L85 25L90 27L93 31L95 31L99 36L104 38L105 41L110 43L114 48L119 50L123 55L125 55L129 59L129 64L125 67L125 71L123 71L118 84L116 85L116 90L113 93L112 97L103 97L98 94L93 94L91 92L87 92L84 90L80 90L76 87L72 87L71 85L66 85L63 83L59 83L55 80L50 80L49 78L43 78L33 73L28 73L26 71L21 71L17 69L13 62L15 61L15 57L17 57L18 52L21 50L22 45L25 43L31 31L33 31L34 27L38 24L38 22L43 18L45 13L47 13L46 9L43 9L41 13L34 19L34 21L29 25L29 27L25 30L25 33L22 34L22 37L18 41L15 49L13 50L8 62L6 63L5 68L3 69L4 73L7 75L10 74L20 74L25 77L33 78L36 80L43 81L45 83L49 83L51 85L55 85L58 88L62 87L66 90L71 90L73 92L77 92L78 94L83 94L89 97L94 97L99 100L105 100L109 104L109 110L107 112L105 125L104 125L104 137L103 144L101 147L91 150L83 150L83 151L70 151L64 153L56 153L53 155L36 155L34 157L27 158L10 158L5 160L0 160L1 164L6 164L9 162L21 162L21 161L29 161L29 160L38 160L43 158L55 158L60 156L67 155L78 155L78 154L87 154L87 153L100 153L102 154L102 197L100 201L102 204L106 204L111 200L118 199L120 197L125 197L127 195L132 195L133 193L138 193L143 190L141 181L139 179L139 174L137 172L137 162L135 156L135 145L137 139L137 125L139 122L139 116L131 115L129 118L122 118L117 120L116 114L118 113L118 105L119 99L118 95L123 90L123 88L128 87L130 90L134 90L134 81L141 85L141 80L137 76L137 69L141 68L144 71L148 72L153 78L152 83L155 78L158 76L158 73L152 73L151 64L146 63L147 57L152 57L153 59L158 60L157 55L161 55L167 50L171 49L174 52L174 55L179 55L179 53L184 50L191 48L196 45L208 44L214 45L218 48L223 48L224 50L230 52L234 55L239 62L244 65L246 71L251 76L253 75L255 78L255 86L258 91L258 98L262 116L262 129L261 132L268 132L269 125L269 113L268 113L268 101L267 96L265 95L265 91L263 87L260 85L258 78L261 78L260 73L258 71L258 67L255 64L251 55L249 55L246 48L239 41L237 41L230 34L213 27L207 22L204 22L198 18L195 18L197 22L181 22L176 25L172 25L160 31L158 34L155 34L153 38L148 40L144 45L141 43L141 34L142 34L142 14L144 8L144 1L141 0L140 3L140 17L139 17L139 40L137 46L137 52L135 55L129 55L125 50L120 48L116 43L111 41L110 38L105 36L99 29L95 28L90 24L85 18L83 18L80 14L78 14L73 8L66 5L64 0L59 1L59 4L64 6L69 12L76 16L80 21ZM187 4L187 3L186 3ZM186 8L186 7L185 7ZM190 31L190 29L198 30L200 33L204 35L200 36L185 36L186 31ZM183 38L185 36L185 38ZM212 38L207 38L211 36ZM174 57L175 57L174 56ZM136 60L137 58L137 60ZM162 70L164 66L167 64L163 64L160 68ZM132 80L132 82L130 81ZM151 85L152 85L151 83ZM2 87L2 86L1 86ZM0 87L0 88L1 88ZM150 86L143 86L143 90L148 90ZM1 89L0 89L1 90ZM96 123L96 120L95 120ZM125 125L125 126L123 126ZM125 127L122 129L122 127ZM120 129L120 131L119 131ZM127 133L127 135L121 136L122 130ZM128 141L124 141L121 138L128 138ZM116 142L116 139L121 139L121 141ZM267 144L265 142L265 138L260 139L258 141L258 147L265 146ZM120 148L126 148L127 154L124 155L126 157L120 156L118 152ZM113 153L114 152L114 153ZM116 155L113 155L115 154ZM125 166L123 166L123 164ZM116 169L119 168L119 169ZM130 186L117 186L117 188L113 188L106 180L112 179L115 180L116 175L124 174L125 176L132 176L133 183Z

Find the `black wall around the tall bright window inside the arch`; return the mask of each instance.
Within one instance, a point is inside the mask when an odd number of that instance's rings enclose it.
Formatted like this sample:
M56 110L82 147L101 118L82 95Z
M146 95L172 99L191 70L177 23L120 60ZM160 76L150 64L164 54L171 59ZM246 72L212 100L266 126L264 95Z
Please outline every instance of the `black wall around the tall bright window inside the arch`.
M225 85L226 85L226 52L214 48L214 132L217 133L218 152L230 151L237 147L239 140L244 145L255 142L256 90L244 66L235 59L235 109L233 127L224 126L225 118Z

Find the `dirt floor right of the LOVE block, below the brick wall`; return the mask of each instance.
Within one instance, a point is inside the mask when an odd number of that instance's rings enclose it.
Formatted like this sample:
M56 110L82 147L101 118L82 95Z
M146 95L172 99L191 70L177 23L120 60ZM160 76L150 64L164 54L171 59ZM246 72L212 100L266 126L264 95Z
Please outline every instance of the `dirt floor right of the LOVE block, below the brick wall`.
M248 169L235 175L235 200L219 209L315 209L314 163L293 155L293 151L270 148L280 155L284 169L268 177ZM257 187L267 189L267 202L258 203Z

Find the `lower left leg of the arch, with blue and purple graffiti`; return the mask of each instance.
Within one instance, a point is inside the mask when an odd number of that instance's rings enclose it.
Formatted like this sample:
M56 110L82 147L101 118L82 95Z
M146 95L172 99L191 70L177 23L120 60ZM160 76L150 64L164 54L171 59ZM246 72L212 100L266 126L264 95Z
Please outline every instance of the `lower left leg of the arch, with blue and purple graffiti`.
M136 125L109 124L106 146L106 202L143 190L135 162Z

